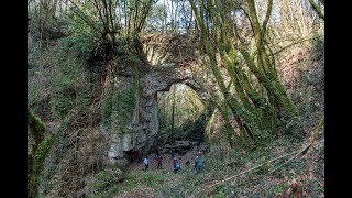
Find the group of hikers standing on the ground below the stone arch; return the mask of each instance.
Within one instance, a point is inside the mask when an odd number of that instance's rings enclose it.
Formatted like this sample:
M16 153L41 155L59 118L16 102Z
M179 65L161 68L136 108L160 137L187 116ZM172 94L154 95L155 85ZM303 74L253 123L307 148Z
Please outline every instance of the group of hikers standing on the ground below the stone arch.
M173 155L173 160L174 160L174 162L173 162L174 173L176 174L178 170L182 169L182 166L180 166L180 162L177 160L175 154L173 153L172 155ZM160 154L160 152L156 152L154 160L156 160L156 162L157 162L156 168L162 169L163 168L163 156ZM140 148L138 151L138 162L141 163L141 161L142 161L142 150ZM189 167L189 161L186 162L186 165L187 165L187 167ZM198 150L198 154L195 157L195 164L194 164L194 168L196 170L196 174L200 173L201 166L202 166L202 156L201 156L200 150ZM150 158L146 155L144 158L144 170L147 170L148 167L150 167Z

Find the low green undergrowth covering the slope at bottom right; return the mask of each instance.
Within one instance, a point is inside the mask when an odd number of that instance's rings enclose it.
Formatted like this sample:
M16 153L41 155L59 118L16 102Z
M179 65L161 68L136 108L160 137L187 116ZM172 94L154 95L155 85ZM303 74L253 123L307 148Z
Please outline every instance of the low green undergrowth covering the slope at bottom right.
M289 139L282 139L275 140L268 146L254 152L211 146L210 152L204 156L204 168L199 175L195 174L193 166L189 168L185 166L177 174L167 169L132 172L124 176L123 182L111 179L110 182L112 183L103 190L97 190L96 187L92 187L95 193L90 197L134 195L134 191L147 188L152 188L152 194L157 197L209 197L210 195L213 197L275 197L282 195L294 178L304 184L305 194L319 197L323 191L323 186L321 186L319 179L302 178L309 175L311 168L315 167L316 169L312 169L315 174L321 175L323 173L323 160L320 158L318 162L314 162L310 158L311 156L321 156L322 148L320 146L308 153L307 157L298 157L267 176L264 175L282 165L285 161L268 163L243 176L211 186L217 182L268 162L272 158L296 151L300 145L301 142L290 143Z

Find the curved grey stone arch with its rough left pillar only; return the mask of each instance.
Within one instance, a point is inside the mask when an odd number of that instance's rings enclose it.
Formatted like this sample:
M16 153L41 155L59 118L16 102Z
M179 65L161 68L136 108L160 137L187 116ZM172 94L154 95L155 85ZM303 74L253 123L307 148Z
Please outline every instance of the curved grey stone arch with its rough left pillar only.
M173 69L167 73L154 72L147 74L143 79L145 85L141 90L140 105L135 133L136 146L146 146L147 150L155 144L156 135L160 130L158 125L158 105L157 105L157 92L168 91L170 86L174 84L183 82L194 89L198 95L198 98L209 103L209 95L199 82L197 82L188 69Z

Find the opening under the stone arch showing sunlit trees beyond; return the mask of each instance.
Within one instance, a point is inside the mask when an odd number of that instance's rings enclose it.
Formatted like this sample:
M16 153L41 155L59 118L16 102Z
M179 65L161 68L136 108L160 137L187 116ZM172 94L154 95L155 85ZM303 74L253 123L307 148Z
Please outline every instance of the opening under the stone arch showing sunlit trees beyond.
M176 82L167 91L157 91L158 145L176 141L202 142L207 107L188 85Z

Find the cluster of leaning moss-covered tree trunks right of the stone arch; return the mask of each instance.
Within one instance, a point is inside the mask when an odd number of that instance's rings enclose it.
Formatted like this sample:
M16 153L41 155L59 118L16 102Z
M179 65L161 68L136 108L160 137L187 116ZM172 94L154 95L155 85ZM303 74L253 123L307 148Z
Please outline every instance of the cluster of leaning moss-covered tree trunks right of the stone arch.
M252 32L255 37L254 50L257 52L256 57L250 55L243 44L244 38L239 34L237 22L231 18L232 10L238 9L239 4L233 1L202 1L207 2L207 8L201 7L204 3L199 3L199 7L196 7L194 0L189 2L200 28L201 42L210 59L210 69L223 95L226 106L222 107L220 112L227 122L229 108L238 122L241 133L246 133L256 144L263 142L267 134L277 134L280 120L290 120L298 116L297 108L287 96L277 77L274 57L268 56L270 48L265 45L266 25L271 16L273 1L268 1L263 24L258 22L254 1L246 1L249 8L246 16L252 23ZM205 9L211 15L211 34L206 29L205 23L207 22L199 14L199 11ZM217 59L217 53L220 55L220 63ZM244 58L243 65L239 65L239 55ZM221 66L224 66L231 78L228 88L220 72ZM253 85L252 78L256 78L258 85ZM261 88L266 90L266 95L263 95ZM233 129L230 129L229 124L226 125L229 128L227 131L230 141L232 135L230 135L229 131L233 131Z

